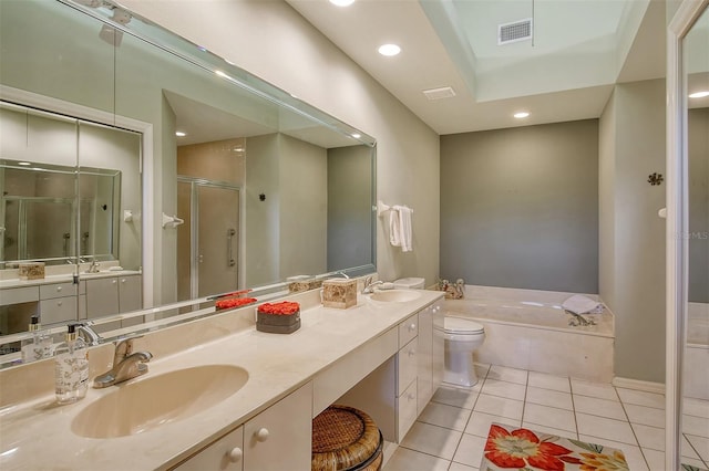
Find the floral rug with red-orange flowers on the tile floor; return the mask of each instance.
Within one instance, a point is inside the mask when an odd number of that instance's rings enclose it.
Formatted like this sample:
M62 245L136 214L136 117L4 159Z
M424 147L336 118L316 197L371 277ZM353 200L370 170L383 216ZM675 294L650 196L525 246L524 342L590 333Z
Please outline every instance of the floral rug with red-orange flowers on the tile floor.
M502 423L490 427L481 471L628 470L623 451Z

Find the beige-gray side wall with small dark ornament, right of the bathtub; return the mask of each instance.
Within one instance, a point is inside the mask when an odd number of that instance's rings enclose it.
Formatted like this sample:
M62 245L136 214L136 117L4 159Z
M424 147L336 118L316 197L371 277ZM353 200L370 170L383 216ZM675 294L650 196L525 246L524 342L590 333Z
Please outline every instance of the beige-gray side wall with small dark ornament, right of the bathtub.
M600 117L600 296L615 314L616 376L665 381L665 81L616 85Z

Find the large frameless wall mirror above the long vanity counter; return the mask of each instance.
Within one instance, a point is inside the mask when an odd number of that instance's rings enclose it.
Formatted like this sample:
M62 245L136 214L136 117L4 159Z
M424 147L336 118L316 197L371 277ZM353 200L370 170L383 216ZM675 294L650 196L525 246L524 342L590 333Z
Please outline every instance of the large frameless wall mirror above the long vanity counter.
M376 271L370 136L107 1L3 0L0 44L3 353L34 313L125 328L143 320L110 316ZM69 281L62 315L16 290Z

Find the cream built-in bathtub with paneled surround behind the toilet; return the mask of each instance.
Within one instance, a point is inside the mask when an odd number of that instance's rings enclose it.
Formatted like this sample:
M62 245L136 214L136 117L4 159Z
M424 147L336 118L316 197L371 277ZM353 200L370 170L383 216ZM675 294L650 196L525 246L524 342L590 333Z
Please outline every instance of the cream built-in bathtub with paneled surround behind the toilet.
M561 304L573 294L466 285L465 297L445 300L444 308L449 316L472 318L485 327L475 362L610 383L613 313L584 314L596 325L571 326L572 316Z

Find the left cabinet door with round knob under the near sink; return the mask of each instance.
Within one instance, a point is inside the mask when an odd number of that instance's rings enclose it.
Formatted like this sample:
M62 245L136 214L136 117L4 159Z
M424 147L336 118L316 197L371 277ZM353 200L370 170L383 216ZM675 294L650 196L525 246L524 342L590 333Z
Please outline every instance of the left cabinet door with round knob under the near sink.
M242 471L244 469L243 447L244 427L239 427L173 469L178 471Z

